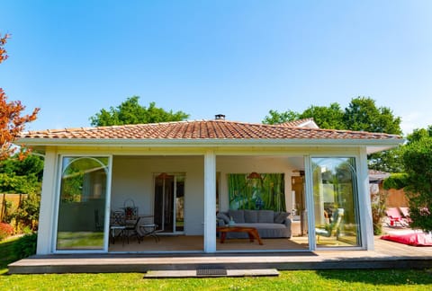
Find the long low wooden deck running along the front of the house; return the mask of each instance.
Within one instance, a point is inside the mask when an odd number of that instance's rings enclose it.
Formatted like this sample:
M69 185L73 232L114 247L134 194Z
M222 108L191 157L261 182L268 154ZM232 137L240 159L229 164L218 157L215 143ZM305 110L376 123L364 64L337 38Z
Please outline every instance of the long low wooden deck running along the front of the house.
M266 243L266 241L264 241ZM219 244L219 243L218 243ZM257 243L253 245L259 246ZM228 246L229 242L223 243ZM116 244L122 247L121 243ZM375 251L291 251L205 254L65 254L33 256L9 265L10 274L111 273L148 270L225 269L423 269L432 268L432 248L375 237Z

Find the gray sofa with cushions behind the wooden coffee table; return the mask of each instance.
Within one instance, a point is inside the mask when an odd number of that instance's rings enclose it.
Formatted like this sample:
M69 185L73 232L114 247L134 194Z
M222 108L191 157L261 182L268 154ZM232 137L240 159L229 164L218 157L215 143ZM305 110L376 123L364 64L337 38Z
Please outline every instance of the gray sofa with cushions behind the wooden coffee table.
M229 220L235 226L255 227L262 238L291 237L291 219L289 212L273 210L229 210L219 212L216 216L218 226L229 225ZM247 238L247 233L228 233L227 238Z

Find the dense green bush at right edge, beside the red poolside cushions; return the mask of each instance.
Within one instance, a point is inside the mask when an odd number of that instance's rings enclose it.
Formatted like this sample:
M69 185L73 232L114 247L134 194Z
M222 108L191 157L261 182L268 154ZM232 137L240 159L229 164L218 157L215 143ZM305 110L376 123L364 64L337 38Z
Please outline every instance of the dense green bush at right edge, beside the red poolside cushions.
M430 129L430 127L429 127ZM405 187L412 226L432 231L432 137L421 137L405 146L403 162L408 174Z

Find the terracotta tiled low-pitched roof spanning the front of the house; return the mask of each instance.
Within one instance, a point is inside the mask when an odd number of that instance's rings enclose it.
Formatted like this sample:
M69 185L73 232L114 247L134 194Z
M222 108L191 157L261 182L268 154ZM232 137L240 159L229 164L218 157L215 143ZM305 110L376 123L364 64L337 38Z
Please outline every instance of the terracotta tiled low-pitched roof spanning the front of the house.
M20 138L47 139L399 139L382 133L295 128L227 120L194 120L98 128L23 132Z

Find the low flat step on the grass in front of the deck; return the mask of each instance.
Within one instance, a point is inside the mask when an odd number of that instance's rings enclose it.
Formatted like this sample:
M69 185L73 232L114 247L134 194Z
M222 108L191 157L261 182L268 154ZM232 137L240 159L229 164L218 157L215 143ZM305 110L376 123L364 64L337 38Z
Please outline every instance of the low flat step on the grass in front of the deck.
M180 269L149 270L144 278L277 277L277 269Z

